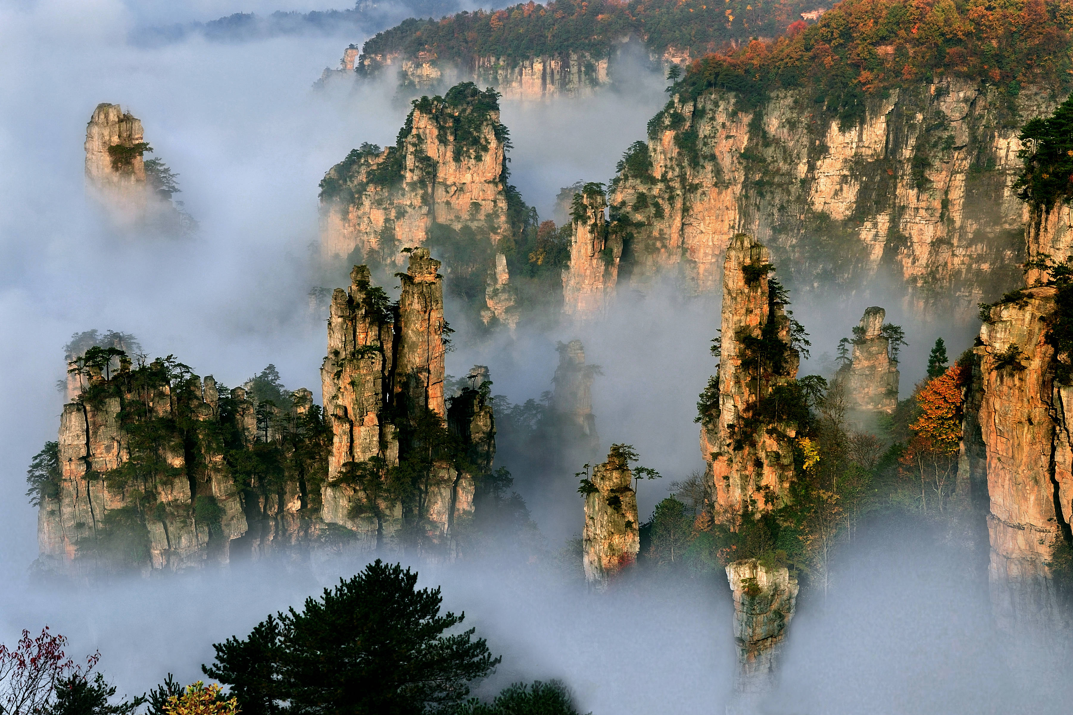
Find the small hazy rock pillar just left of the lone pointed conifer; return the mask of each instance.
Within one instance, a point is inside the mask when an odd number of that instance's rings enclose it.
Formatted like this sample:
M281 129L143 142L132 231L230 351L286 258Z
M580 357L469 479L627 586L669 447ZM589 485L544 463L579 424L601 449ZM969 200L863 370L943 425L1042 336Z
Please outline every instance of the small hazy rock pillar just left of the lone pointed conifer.
M882 308L865 311L854 331L852 358L836 375L852 412L891 413L898 406L898 363L891 359L891 341L883 334L885 317Z

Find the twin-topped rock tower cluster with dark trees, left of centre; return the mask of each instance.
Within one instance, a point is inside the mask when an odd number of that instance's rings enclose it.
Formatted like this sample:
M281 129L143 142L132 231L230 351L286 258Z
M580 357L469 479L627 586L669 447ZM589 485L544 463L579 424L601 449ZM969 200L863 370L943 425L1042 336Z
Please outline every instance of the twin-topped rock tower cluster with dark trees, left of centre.
M481 389L487 368L450 413L444 399L439 268L427 249L413 249L397 306L366 266L352 271L349 293L332 298L321 376L333 447L321 516L356 532L363 549L405 546L399 532L409 528L422 535L414 546L426 555L453 555L454 526L472 515L475 480L491 468L495 424L488 388ZM460 437L460 452L440 448L447 432ZM401 464L407 476L393 476Z

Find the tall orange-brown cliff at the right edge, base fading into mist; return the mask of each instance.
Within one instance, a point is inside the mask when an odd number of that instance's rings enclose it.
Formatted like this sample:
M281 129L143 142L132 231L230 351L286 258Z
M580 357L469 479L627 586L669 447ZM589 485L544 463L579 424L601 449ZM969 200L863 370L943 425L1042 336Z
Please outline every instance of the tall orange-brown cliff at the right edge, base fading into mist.
M1052 286L1028 288L1021 300L991 308L975 348L990 496L991 606L999 626L1011 632L1069 626L1048 565L1073 516L1067 415L1073 388L1054 382L1046 337L1055 294ZM1003 360L1014 346L1020 354Z

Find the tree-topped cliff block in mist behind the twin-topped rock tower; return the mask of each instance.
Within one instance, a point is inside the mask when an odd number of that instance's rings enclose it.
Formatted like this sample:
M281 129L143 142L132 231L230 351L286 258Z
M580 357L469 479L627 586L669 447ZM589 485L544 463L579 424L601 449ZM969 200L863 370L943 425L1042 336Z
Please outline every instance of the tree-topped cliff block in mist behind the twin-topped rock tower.
M391 267L433 234L497 243L510 232L505 139L494 93L462 85L415 101L394 147L363 145L325 175L324 253Z

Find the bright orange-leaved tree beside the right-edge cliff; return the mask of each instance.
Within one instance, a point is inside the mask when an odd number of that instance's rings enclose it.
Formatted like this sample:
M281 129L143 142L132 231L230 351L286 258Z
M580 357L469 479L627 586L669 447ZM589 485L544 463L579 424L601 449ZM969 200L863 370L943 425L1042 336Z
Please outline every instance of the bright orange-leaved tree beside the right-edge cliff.
M909 426L913 436L901 456L901 463L920 474L921 509L924 511L927 511L926 483L929 480L942 511L943 492L957 464L966 373L966 368L955 364L939 377L929 379L916 392L921 416Z

